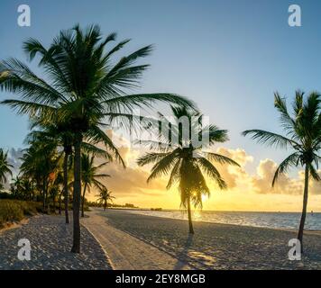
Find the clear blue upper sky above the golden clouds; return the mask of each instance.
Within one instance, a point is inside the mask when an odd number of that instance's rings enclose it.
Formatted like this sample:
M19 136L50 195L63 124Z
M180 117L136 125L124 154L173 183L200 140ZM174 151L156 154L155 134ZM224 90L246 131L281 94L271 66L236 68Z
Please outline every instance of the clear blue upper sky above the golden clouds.
M17 25L19 4L30 5L31 27ZM289 4L300 4L302 27L289 27ZM321 4L314 0L2 0L0 5L0 58L25 60L23 40L47 44L75 23L98 23L105 34L118 32L118 40L133 39L125 52L154 44L142 91L196 101L212 122L230 131L225 147L244 148L254 157L252 168L260 159L279 162L284 156L240 135L251 128L279 131L273 92L290 97L297 88L321 91ZM7 96L0 93L1 99ZM0 147L22 147L26 118L0 107L0 120Z

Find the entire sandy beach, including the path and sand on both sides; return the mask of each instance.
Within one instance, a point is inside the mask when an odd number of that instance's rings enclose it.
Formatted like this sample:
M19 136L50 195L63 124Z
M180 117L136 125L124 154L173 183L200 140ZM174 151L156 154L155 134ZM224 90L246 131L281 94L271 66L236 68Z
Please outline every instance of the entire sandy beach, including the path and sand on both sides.
M63 216L37 215L0 231L0 269L320 269L321 235L307 231L302 261L290 261L289 239L296 231L103 211L91 208L82 223L82 252L69 252L71 225ZM44 232L45 231L45 232ZM32 260L20 261L20 238L32 244Z

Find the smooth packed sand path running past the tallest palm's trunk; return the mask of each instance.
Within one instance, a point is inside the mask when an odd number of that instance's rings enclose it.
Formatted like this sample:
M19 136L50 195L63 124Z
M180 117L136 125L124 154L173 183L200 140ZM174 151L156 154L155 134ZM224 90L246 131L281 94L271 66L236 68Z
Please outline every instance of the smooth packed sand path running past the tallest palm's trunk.
M92 208L82 224L92 233L105 250L115 270L186 270L187 264L108 224Z

